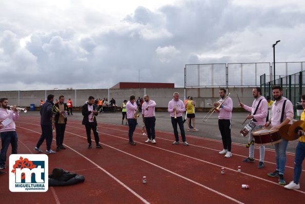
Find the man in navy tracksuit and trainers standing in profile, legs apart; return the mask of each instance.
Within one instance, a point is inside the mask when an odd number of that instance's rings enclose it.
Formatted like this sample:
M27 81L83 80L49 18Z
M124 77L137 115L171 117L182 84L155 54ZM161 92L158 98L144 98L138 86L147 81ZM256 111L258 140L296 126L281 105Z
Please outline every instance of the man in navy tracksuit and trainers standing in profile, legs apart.
M47 97L46 103L42 105L42 109L40 110L40 126L42 127L42 135L40 136L36 147L34 150L36 152L43 152L42 150L39 149L40 145L43 144L44 140L46 139L47 143L47 151L46 154L54 154L55 152L51 150L51 145L52 145L52 139L53 139L53 130L52 130L52 109L53 109L53 100L54 100L54 95L49 94Z

